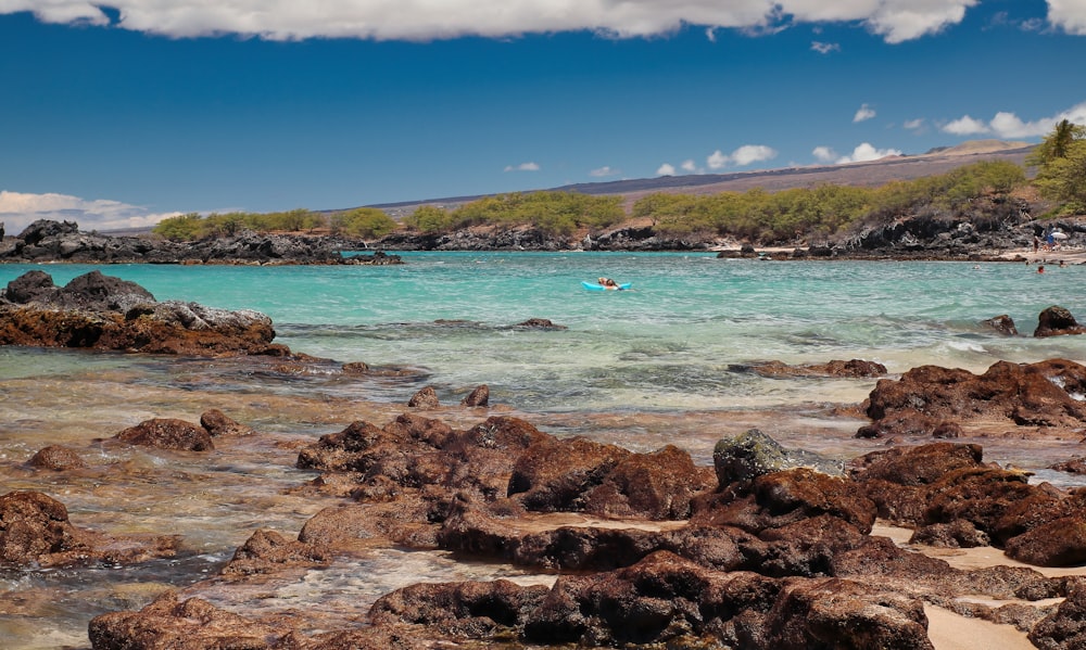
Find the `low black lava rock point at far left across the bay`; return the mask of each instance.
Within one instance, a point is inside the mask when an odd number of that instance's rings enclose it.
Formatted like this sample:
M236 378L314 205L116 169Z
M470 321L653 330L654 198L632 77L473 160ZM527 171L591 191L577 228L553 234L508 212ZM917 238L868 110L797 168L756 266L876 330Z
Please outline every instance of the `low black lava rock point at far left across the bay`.
M267 234L250 230L232 237L179 243L156 238L80 232L74 221L41 219L27 226L14 238L0 239L0 262L237 265L403 263L399 255L387 255L382 251L354 256L341 253L365 247L365 243L327 237Z

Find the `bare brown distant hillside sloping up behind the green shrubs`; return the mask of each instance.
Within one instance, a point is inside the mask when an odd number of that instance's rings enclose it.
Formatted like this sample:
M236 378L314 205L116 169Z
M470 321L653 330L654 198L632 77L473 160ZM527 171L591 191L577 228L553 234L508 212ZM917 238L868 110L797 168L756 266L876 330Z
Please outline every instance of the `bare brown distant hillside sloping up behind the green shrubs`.
M893 180L910 180L923 176L946 174L956 167L970 165L980 161L1010 161L1021 165L1033 146L1028 142L972 140L962 142L956 146L933 149L923 154L891 156L869 163L784 167L781 169L735 171L732 174L659 176L656 178L574 183L547 188L546 191L581 192L596 195L618 194L623 196L627 205L632 205L642 196L656 192L714 194L729 191L743 192L754 188L762 188L773 192L820 184L876 187ZM541 191L543 190L541 189ZM381 208L395 217L411 214L420 205L455 208L458 205L482 199L487 195L479 194L476 196L451 196L446 199L382 203L368 207Z

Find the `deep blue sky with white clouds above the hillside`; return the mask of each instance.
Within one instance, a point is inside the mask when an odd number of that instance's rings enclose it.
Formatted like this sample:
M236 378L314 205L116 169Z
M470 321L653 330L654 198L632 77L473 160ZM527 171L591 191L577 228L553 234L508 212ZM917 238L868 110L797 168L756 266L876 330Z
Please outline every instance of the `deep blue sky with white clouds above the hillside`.
M1086 0L0 0L0 221L1036 142L1084 61Z

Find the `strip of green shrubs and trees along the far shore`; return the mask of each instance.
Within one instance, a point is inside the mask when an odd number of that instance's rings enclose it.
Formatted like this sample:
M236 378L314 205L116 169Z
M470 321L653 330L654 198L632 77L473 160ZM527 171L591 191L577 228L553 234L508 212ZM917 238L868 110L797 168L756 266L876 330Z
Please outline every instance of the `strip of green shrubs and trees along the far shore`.
M1026 169L1036 176L1027 179ZM1086 213L1086 127L1063 120L1037 145L1026 166L984 161L937 176L881 187L822 184L768 192L678 194L658 192L629 206L616 195L516 192L487 196L454 209L424 205L400 221L372 207L339 213L188 214L160 222L154 232L174 241L257 232L310 231L380 239L396 230L427 234L469 227L532 227L552 237L598 232L631 218L647 220L664 237L733 237L759 243L829 238L857 225L910 214L959 214L980 199L1006 199L1027 184L1051 201L1053 216Z

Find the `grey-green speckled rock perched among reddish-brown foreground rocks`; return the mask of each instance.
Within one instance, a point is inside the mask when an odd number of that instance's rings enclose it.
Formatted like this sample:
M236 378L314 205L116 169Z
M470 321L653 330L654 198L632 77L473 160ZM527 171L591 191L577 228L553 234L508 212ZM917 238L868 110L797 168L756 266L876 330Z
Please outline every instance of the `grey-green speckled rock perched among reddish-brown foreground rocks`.
M826 474L843 473L839 461L804 449L785 449L757 429L719 441L712 449L712 464L721 488L735 481L749 481L788 468L809 467Z

